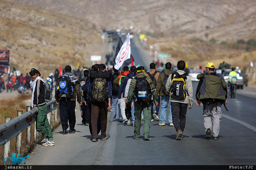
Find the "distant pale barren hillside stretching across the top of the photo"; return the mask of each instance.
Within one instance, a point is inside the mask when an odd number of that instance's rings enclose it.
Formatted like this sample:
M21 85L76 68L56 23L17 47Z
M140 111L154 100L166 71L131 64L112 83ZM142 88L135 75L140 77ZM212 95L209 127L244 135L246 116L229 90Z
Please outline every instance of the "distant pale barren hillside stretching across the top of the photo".
M254 0L12 0L87 19L100 27L221 41L255 38ZM208 38L205 34L208 34Z

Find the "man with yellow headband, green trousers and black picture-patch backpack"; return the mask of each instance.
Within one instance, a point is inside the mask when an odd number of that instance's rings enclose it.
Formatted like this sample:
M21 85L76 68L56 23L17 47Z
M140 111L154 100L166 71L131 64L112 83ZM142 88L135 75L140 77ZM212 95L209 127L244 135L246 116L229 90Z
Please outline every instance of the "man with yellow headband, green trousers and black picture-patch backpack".
M134 137L133 139L140 139L140 125L141 125L141 111L143 111L144 117L144 139L151 140L149 138L149 130L150 130L150 120L151 120L151 96L153 95L154 100L157 103L157 93L156 87L153 84L152 80L145 76L145 68L140 66L137 68L137 75L131 80L129 93L127 97L127 103L132 105L132 99L134 95L136 98L134 99Z

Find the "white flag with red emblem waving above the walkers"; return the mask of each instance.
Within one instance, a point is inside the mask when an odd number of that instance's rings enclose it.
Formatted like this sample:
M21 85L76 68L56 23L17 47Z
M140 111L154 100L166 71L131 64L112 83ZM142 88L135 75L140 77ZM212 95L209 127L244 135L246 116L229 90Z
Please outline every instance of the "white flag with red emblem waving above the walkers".
M124 61L131 58L131 43L129 33L124 41L119 53L116 56L116 65L114 66L117 70L123 65Z

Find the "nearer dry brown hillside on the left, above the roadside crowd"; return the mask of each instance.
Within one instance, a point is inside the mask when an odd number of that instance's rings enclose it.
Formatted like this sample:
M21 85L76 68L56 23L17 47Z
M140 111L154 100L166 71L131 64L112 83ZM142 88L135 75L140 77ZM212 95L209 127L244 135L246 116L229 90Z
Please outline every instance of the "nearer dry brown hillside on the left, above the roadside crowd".
M85 19L1 0L0 48L10 50L11 71L36 67L49 74L60 64L85 65L97 46L100 34Z

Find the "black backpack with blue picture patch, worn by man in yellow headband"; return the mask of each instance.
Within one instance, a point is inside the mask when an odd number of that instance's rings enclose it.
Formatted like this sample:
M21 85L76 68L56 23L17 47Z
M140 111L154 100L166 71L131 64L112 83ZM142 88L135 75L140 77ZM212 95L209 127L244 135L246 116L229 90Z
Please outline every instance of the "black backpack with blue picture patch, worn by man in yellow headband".
M137 103L151 103L152 92L146 78L146 76L141 78L134 77L136 79L135 96Z

